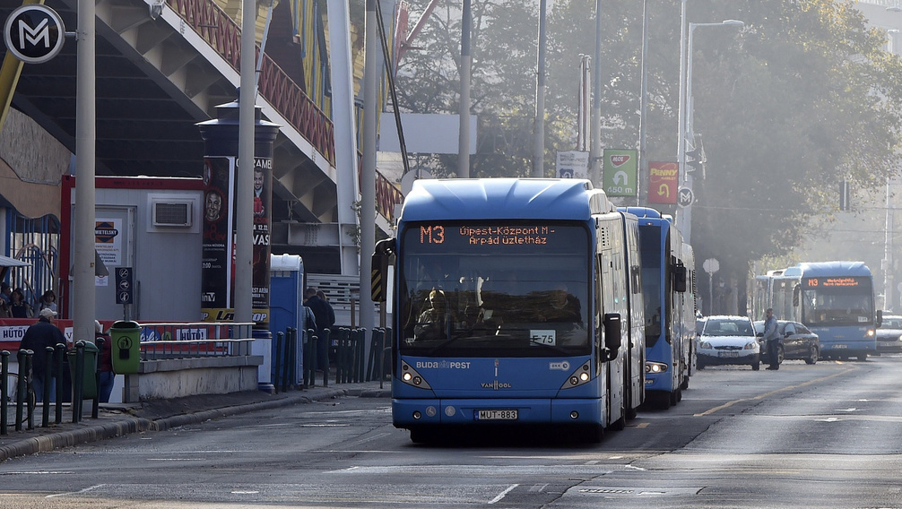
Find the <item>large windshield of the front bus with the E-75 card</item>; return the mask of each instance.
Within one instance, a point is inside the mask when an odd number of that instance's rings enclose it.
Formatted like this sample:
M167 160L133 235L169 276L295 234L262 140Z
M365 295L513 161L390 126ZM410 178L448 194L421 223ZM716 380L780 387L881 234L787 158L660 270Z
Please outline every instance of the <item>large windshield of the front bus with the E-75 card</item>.
M589 232L556 223L412 224L401 234L400 353L588 354Z

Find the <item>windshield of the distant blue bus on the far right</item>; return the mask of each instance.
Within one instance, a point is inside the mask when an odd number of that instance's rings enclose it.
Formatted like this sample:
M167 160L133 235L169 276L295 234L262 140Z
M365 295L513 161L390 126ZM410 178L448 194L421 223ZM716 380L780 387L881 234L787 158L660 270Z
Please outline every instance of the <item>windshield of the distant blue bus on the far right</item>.
M803 323L809 326L873 323L870 279L847 277L846 280L850 283L844 286L812 286L803 282Z

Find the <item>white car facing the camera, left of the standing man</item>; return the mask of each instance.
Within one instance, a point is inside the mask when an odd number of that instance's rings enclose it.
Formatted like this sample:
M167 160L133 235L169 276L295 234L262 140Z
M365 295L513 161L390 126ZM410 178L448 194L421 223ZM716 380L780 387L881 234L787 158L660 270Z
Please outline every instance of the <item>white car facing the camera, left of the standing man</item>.
M755 325L748 316L708 316L698 337L699 369L722 364L748 364L761 368Z

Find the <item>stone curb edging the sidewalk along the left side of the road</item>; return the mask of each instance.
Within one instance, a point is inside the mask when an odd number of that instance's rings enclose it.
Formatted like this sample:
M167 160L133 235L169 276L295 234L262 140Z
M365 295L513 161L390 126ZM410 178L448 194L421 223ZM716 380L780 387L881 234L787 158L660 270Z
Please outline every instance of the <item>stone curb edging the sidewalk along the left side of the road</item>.
M38 452L50 452L52 450L71 447L80 443L88 443L92 441L101 441L121 437L124 435L137 432L163 432L170 428L184 426L186 424L203 423L211 419L227 417L229 415L246 414L258 410L270 410L290 404L307 404L314 401L324 399L333 399L350 395L351 392L363 393L380 393L381 391L349 391L346 389L330 389L318 391L316 395L297 395L293 397L281 398L273 401L263 401L251 404L237 404L234 406L226 406L224 408L216 408L211 410L201 410L190 414L172 415L170 417L161 417L160 419L147 419L143 417L124 418L122 420L110 423L97 423L86 426L78 430L69 430L65 432L55 432L37 437L29 437L21 441L14 441L5 446L0 447L0 462L6 459L17 458L21 456L30 456ZM367 396L364 396L367 397ZM378 397L378 396L368 396Z

